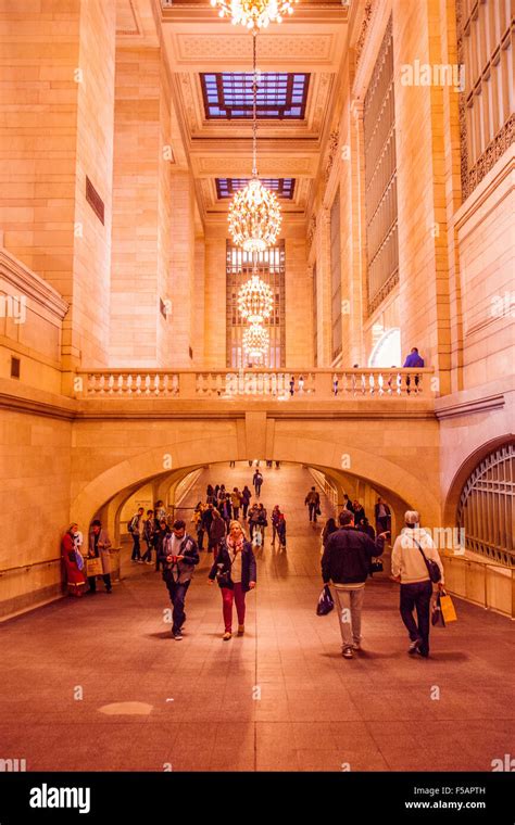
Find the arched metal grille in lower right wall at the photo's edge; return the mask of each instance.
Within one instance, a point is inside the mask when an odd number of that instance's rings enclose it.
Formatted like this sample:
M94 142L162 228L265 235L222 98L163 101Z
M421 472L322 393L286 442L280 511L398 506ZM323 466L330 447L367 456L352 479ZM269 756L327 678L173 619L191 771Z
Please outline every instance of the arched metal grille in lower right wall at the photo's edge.
M469 475L457 508L465 547L515 567L515 443L490 453Z

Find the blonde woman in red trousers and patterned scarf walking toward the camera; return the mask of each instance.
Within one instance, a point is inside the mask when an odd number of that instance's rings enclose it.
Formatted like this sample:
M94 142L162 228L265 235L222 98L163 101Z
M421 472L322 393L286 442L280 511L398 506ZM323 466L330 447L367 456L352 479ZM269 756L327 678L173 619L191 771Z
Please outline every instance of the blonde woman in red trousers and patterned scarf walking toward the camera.
M229 534L222 540L209 574L209 583L217 580L222 591L225 632L224 642L233 637L233 605L236 601L238 636L244 633L246 594L255 587L256 569L252 545L239 521L231 521Z

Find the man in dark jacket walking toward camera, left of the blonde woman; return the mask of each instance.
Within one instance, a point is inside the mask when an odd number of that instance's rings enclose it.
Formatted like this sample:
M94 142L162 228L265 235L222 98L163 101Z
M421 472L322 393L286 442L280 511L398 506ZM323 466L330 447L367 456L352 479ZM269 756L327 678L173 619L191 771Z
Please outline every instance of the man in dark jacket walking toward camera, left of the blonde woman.
M200 561L197 543L187 534L186 524L180 519L174 521L172 533L165 535L161 558L164 561L163 580L174 606L172 636L180 642L181 627L186 621L186 593L193 578L194 566Z

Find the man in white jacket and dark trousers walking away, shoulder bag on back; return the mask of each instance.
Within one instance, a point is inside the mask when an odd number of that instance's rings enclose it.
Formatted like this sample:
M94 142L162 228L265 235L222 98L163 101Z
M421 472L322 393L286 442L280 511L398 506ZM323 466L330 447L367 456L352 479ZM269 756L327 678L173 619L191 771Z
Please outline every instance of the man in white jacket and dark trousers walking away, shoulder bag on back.
M431 536L419 526L419 519L416 510L406 510L404 513L405 526L395 538L391 553L391 574L401 583L400 612L411 640L407 652L427 658L432 582L424 556L436 561L440 568L440 589L443 587L443 567ZM413 615L414 610L417 621Z

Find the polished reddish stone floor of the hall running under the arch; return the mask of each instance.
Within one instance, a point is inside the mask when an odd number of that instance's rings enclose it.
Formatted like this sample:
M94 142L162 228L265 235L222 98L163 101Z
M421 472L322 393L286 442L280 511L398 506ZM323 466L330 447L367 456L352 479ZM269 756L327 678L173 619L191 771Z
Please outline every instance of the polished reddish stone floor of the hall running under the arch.
M459 622L432 631L429 660L412 659L384 574L367 584L364 651L343 660L336 614L315 614L311 475L263 472L262 499L284 507L288 546L267 536L260 551L247 635L222 642L204 553L185 638L172 640L161 576L127 549L111 596L102 586L0 625L0 758L29 771L490 771L513 752L510 620L456 599ZM209 480L241 486L251 473L214 466L185 505Z

